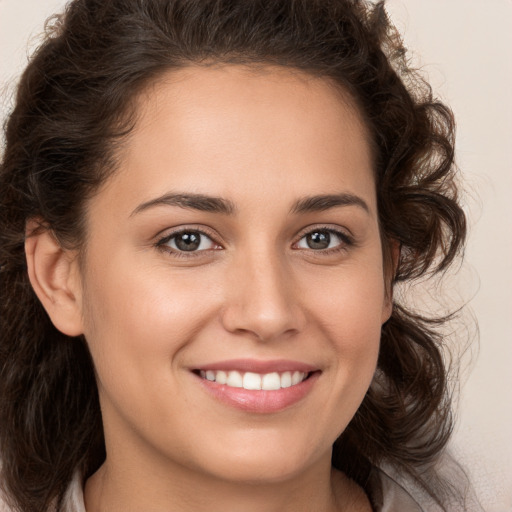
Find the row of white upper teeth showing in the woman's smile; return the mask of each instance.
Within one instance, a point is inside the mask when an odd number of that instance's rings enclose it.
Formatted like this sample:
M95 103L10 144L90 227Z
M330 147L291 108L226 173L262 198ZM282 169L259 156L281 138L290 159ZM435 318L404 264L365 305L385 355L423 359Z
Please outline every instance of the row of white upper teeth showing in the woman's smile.
M283 372L283 373L259 373L237 371L213 371L201 370L199 372L203 379L217 382L218 384L226 384L233 388L244 388L250 390L274 391L281 388L289 388L302 382L307 373L304 372Z

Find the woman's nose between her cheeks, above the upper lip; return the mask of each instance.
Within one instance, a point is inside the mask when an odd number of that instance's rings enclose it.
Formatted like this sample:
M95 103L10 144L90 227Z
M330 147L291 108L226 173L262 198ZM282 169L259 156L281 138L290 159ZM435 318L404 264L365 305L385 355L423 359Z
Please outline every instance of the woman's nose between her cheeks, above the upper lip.
M305 313L291 270L278 255L241 255L228 271L224 328L259 341L300 332Z

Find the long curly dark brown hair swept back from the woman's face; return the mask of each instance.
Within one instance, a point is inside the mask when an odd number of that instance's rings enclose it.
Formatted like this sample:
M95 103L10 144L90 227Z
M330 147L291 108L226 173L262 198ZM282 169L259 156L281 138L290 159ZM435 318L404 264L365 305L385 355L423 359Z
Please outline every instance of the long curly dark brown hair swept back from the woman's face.
M466 232L452 113L408 66L382 2L74 0L47 32L19 83L0 168L2 485L27 512L58 503L73 472L90 475L105 452L86 342L59 332L36 298L26 224L40 219L64 247L82 247L87 200L116 170L137 96L165 72L273 64L348 91L371 134L390 286L444 271ZM387 463L436 497L421 468L452 430L442 321L394 303L372 385L333 449L333 465L363 486Z

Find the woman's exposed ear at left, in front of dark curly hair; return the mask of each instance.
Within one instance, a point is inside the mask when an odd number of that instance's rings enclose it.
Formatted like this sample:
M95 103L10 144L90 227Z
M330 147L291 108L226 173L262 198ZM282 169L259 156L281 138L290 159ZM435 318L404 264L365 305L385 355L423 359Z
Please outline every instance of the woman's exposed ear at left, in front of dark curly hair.
M36 220L26 229L25 254L32 288L55 327L68 336L82 328L81 283L75 251L62 248Z

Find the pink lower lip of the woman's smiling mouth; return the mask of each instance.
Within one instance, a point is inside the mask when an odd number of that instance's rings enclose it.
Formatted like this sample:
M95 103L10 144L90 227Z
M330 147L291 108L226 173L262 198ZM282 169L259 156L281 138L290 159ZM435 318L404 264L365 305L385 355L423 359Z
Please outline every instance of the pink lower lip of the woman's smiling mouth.
M318 380L320 372L312 373L306 380L288 388L272 391L234 388L217 384L197 376L203 388L214 398L242 411L269 414L282 411L304 399Z

